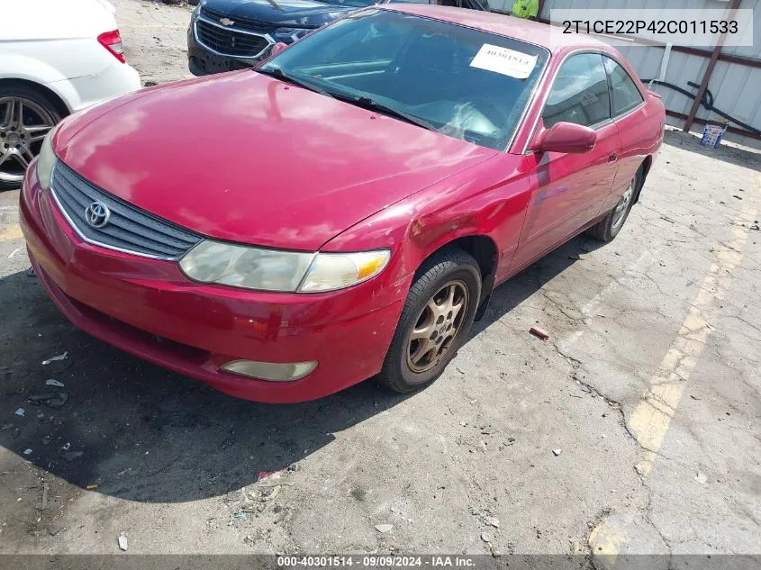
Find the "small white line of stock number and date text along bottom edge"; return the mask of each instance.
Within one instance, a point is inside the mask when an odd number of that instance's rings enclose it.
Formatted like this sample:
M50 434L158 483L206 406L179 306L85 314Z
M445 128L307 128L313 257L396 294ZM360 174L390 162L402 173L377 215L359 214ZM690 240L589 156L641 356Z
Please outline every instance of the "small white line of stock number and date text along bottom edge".
M467 568L476 565L470 556L277 556L279 567L330 567L330 566L359 566L367 568L390 567L460 567Z

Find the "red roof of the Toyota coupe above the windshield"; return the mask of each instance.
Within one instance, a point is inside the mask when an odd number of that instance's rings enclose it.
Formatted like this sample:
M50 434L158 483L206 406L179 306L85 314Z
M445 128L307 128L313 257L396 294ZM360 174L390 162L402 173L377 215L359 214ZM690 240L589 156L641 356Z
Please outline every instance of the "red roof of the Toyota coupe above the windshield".
M604 41L596 40L584 33L562 33L560 27L549 26L546 23L531 22L507 14L453 8L448 6L427 4L388 4L379 5L382 10L393 10L403 14L413 14L433 18L443 22L457 23L468 28L476 28L501 36L514 38L542 46L553 54L563 54L567 51L589 48L603 50L612 54L618 51ZM552 31L550 33L550 31Z

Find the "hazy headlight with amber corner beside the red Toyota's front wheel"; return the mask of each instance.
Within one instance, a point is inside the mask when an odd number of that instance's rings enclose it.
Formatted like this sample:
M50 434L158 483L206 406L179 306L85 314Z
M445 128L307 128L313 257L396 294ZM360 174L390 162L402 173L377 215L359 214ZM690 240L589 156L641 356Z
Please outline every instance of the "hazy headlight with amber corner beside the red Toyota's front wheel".
M205 240L179 265L186 276L258 291L332 291L376 276L388 264L387 249L360 253L301 253Z

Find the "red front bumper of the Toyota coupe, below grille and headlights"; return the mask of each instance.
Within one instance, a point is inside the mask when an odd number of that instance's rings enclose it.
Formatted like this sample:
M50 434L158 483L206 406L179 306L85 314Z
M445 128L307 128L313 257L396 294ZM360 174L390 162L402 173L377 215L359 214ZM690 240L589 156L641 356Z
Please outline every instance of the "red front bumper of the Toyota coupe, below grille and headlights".
M248 400L293 403L332 394L376 375L406 290L387 270L340 292L272 294L189 281L172 261L138 258L80 240L34 163L20 222L41 285L77 327L180 374ZM407 278L404 278L406 282ZM396 292L396 293L394 293ZM317 360L294 382L222 372L235 359Z

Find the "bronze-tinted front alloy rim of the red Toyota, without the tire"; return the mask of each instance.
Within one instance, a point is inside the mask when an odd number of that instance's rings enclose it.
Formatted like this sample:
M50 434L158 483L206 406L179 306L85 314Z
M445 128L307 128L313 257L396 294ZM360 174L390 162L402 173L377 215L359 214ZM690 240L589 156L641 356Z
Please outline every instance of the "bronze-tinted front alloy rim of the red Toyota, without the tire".
M421 373L436 366L462 328L467 314L467 285L449 281L423 307L407 342L407 366Z

